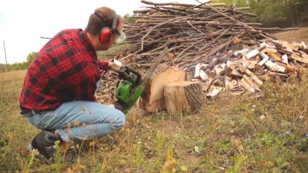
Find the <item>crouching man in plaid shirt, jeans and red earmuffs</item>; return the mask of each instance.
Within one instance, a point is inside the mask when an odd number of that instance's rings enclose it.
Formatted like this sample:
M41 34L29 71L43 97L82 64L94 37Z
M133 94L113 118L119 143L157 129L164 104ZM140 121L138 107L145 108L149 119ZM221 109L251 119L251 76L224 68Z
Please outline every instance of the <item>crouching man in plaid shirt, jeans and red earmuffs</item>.
M29 65L20 95L20 113L42 129L28 146L47 162L57 140L100 138L122 128L122 111L95 102L100 70L116 70L109 61L99 61L96 51L108 50L125 40L124 19L102 7L89 18L85 30L65 29L38 52ZM50 163L50 162L49 162Z

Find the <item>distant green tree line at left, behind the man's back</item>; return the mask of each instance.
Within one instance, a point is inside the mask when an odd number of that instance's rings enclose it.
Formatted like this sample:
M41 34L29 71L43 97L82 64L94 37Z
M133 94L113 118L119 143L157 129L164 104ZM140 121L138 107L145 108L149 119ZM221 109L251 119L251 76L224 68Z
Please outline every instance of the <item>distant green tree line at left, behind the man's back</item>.
M21 63L13 63L13 64L8 64L6 67L6 64L0 64L0 72L5 72L6 68L8 71L17 71L17 70L25 70L28 68L29 64L32 62L33 58L35 58L37 55L37 52L31 52L27 56L27 61L21 62Z

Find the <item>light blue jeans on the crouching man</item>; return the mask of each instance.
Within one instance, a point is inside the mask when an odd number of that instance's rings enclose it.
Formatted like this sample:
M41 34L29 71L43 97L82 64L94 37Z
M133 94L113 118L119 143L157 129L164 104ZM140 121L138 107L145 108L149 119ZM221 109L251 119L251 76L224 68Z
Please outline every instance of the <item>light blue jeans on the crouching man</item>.
M56 129L63 141L75 141L114 133L124 126L125 115L96 102L72 101L63 103L56 110L27 117L27 120L39 129Z

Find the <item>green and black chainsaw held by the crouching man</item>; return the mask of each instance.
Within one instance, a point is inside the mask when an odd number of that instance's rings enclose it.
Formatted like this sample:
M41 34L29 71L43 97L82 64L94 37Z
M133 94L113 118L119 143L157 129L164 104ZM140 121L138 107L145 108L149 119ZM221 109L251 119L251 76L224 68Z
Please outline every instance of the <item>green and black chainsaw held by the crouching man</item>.
M119 78L123 79L121 82L119 81L117 83L117 89L115 90L115 98L117 98L117 101L113 102L113 105L116 109L119 109L126 114L133 107L143 94L150 76L163 60L167 52L168 47L166 47L159 55L143 79L141 79L141 75L137 71L128 66L123 66L121 62L117 60L112 60L114 65L120 67L118 70Z

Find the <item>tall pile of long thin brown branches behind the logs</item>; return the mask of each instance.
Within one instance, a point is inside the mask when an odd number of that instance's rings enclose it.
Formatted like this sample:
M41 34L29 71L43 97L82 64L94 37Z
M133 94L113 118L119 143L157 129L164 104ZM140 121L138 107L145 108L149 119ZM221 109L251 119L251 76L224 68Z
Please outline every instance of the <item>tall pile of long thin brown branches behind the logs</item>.
M208 64L208 68L214 68L217 64L226 63L236 51L254 49L264 41L276 39L264 31L298 29L261 28L261 23L244 23L246 16L256 15L243 11L248 8L227 7L224 3L141 2L147 6L134 11L134 18L138 19L135 23L124 26L126 43L130 46L117 59L142 74L166 46L169 47L169 58L162 63L194 71L197 64ZM108 80L115 74L109 72L104 76ZM110 90L108 97L112 98L114 92L110 86L115 88L115 83L105 81L101 93L107 97L103 90Z

